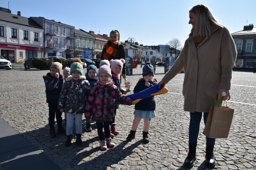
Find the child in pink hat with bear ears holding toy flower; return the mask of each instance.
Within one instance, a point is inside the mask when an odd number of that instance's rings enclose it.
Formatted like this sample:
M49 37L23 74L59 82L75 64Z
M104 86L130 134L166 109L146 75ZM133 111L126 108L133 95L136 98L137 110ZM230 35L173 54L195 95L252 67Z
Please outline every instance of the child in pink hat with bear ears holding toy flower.
M125 60L121 58L120 60L110 60L110 69L111 69L111 75L112 75L112 80L114 82L114 85L116 85L121 91L122 94L126 94L127 92L124 91L121 88L121 71L123 69L123 65L125 63ZM110 122L110 136L114 137L115 135L119 134L119 132L116 129L116 123L115 123L115 117L116 117L116 110L119 108L119 105L114 106L114 117L112 118L112 121Z

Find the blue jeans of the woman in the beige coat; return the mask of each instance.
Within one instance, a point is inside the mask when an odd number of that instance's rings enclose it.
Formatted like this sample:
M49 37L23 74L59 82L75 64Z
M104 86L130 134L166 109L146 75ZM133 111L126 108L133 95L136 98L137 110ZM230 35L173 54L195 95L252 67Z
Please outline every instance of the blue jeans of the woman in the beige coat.
M206 120L208 117L208 112L204 113L204 123L206 124ZM190 112L190 122L189 122L189 131L188 131L188 143L197 144L197 138L200 129L200 122L202 119L202 112ZM206 136L206 144L213 146L215 145L215 139L209 138Z

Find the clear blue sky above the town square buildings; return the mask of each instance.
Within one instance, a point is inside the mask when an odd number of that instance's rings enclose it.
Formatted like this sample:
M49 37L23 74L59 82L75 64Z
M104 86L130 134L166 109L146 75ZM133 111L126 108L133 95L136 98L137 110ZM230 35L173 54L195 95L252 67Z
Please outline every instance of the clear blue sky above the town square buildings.
M256 27L255 0L0 0L0 7L11 13L21 11L24 17L45 17L76 29L108 34L113 29L120 32L121 41L129 37L143 45L165 44L178 38L184 44L191 30L188 11L196 4L207 5L219 23L230 33L253 23ZM119 2L119 3L113 3ZM52 4L52 5L48 5Z

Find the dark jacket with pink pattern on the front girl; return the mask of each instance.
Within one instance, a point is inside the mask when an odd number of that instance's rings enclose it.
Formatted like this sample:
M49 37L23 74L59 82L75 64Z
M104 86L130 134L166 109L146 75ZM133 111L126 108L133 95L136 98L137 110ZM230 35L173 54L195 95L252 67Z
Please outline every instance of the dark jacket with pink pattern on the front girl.
M88 97L85 116L114 117L114 99L124 105L132 104L132 100L123 96L112 81L107 85L101 85L100 81L98 81L98 84L91 89Z

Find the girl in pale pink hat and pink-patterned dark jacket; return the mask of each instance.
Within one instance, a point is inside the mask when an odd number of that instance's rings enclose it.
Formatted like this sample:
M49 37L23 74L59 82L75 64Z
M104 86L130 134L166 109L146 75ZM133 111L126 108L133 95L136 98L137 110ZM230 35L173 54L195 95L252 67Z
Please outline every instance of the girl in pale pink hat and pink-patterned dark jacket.
M100 146L104 150L107 149L107 144L109 147L115 146L110 137L110 122L114 117L114 99L121 104L134 104L130 98L122 95L118 87L114 85L111 76L111 69L107 65L99 68L99 81L91 89L85 112L87 118L92 116L92 120L96 121ZM104 138L103 128L106 139Z

